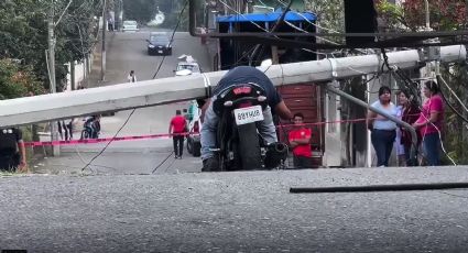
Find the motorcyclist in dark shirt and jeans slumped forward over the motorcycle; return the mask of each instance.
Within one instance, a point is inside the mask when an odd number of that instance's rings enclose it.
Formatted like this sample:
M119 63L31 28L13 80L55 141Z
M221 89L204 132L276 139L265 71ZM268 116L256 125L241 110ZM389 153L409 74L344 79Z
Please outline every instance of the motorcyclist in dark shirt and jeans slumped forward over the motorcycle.
M277 142L273 114L284 120L291 120L292 113L284 103L280 94L264 73L250 66L239 66L229 70L218 82L213 91L214 96L206 100L202 109L203 128L200 132L203 172L217 170L219 162L214 157L213 148L216 147L216 129L219 117L213 109L213 102L221 90L239 84L254 82L262 87L266 94L268 107L263 110L264 120L259 122L259 133L266 143Z

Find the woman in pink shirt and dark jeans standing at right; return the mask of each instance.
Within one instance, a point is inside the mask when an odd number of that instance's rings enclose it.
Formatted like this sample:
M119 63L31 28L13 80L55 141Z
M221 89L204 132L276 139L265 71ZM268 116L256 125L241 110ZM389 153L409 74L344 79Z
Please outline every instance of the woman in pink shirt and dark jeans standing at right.
M424 96L428 100L424 103L420 118L413 127L423 136L423 150L429 166L440 164L438 150L440 148L440 132L444 122L444 102L440 97L440 89L434 81L424 84Z

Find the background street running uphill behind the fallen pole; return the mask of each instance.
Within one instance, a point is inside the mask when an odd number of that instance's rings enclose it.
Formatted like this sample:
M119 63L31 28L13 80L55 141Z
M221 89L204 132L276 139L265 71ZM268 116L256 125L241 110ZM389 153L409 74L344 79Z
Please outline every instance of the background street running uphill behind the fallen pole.
M149 36L149 31L109 34L106 81L100 82L98 80L100 62L95 62L94 64L97 65L94 68L96 73L91 74L89 86L127 82L127 76L132 69L135 72L138 80L152 79L160 65L161 69L157 72L156 78L172 77L178 63L177 57L183 54L192 55L203 70L210 70L211 63L208 59L207 48L200 44L198 37L192 37L185 32L176 32L173 54L163 57L148 55L145 40ZM131 111L120 111L113 117L101 119L102 131L100 136L111 138L122 125L124 128L120 130L117 136L167 133L168 122L175 116L175 110L183 110L187 107L187 102L178 102L137 109L127 124L124 122L129 119ZM83 122L79 122L79 124L83 124ZM78 135L79 132L75 133L75 139L78 139ZM106 144L62 146L59 157L47 157L35 164L33 170L42 174L79 174L81 168L97 153L102 151ZM202 168L199 157L187 154L186 148L184 148L184 152L183 161L174 161L173 155L171 155L172 140L170 139L113 142L84 173L92 175L152 174L157 166L160 166L160 169L154 173L199 172Z

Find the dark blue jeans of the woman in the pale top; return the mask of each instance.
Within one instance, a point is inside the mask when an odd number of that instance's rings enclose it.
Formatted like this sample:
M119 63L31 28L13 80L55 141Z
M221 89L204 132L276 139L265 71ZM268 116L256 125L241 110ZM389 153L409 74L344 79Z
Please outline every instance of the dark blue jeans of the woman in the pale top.
M370 135L377 155L377 166L389 166L389 158L392 154L393 142L396 138L395 130L372 130Z

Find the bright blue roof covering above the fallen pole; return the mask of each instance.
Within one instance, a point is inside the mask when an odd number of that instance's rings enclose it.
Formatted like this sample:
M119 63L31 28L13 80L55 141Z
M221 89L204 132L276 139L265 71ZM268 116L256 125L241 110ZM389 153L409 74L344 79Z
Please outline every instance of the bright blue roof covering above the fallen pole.
M232 15L220 15L217 18L217 22L274 22L280 19L282 10L276 10L271 13L248 13L248 14L232 14ZM285 21L315 21L317 16L312 12L294 12L290 11L284 16Z

